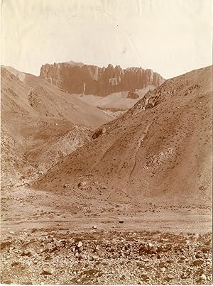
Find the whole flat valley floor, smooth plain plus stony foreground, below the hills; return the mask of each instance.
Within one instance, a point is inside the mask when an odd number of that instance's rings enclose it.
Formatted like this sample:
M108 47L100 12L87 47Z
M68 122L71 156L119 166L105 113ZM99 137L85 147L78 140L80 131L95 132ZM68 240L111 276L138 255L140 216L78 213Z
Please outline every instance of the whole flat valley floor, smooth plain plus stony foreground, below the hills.
M8 190L1 196L1 282L211 284L211 225L210 207Z

